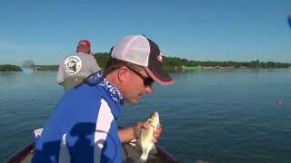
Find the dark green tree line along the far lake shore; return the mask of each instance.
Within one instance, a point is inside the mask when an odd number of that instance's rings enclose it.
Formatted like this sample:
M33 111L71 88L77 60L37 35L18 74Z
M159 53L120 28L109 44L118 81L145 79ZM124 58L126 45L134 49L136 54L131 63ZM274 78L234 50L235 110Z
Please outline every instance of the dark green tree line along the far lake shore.
M101 68L105 68L105 64L109 59L109 53L95 53L95 60ZM259 60L251 62L214 62L214 61L195 61L188 60L185 58L178 57L166 57L163 58L163 67L166 70L174 70L175 68L181 68L182 66L186 67L246 67L246 68L290 68L291 63L288 62L260 62ZM38 67L41 71L57 71L58 65L34 65ZM21 67L11 64L0 65L0 72L21 72Z

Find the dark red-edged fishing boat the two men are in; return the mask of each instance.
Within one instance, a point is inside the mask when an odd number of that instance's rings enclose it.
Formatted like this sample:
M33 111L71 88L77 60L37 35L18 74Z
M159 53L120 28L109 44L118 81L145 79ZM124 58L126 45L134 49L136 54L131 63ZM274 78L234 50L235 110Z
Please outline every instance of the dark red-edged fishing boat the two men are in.
M36 129L35 129L36 130ZM41 129L42 130L42 129ZM39 131L39 130L38 130ZM138 140L135 141L128 141L122 143L123 149L123 163L131 163L135 162L141 156L141 146ZM30 142L27 144L23 149L18 150L13 156L5 160L5 163L30 163L31 159L34 156L35 152L35 141ZM153 162L153 163L161 163L161 162L168 162L168 163L176 163L178 162L176 158L171 156L169 153L166 152L165 149L162 149L160 146L156 144L156 151L150 152L146 162Z

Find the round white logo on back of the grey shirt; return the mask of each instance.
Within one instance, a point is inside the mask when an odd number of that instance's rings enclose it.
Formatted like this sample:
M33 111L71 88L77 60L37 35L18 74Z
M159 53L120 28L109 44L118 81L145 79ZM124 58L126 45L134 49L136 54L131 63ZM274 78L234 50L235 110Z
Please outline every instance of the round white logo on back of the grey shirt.
M65 59L64 67L68 75L75 75L75 73L80 72L82 61L78 56L69 56Z

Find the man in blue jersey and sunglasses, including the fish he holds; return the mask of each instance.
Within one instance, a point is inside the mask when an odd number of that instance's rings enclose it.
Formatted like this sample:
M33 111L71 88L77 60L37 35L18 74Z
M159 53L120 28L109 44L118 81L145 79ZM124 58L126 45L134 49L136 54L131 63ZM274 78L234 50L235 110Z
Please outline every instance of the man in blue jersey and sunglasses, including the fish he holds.
M174 82L162 62L159 47L145 35L121 38L103 71L65 92L36 141L32 162L121 162L121 143L140 137L146 160L161 133L157 112L123 129L116 120L125 101L137 103L153 91L153 82Z

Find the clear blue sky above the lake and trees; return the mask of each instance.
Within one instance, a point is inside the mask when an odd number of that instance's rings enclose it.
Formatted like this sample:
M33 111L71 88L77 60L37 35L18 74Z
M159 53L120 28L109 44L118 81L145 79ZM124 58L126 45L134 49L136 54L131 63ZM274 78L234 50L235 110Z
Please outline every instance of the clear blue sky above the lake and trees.
M0 5L0 64L59 64L80 39L108 52L146 34L165 56L291 62L290 0L25 0Z

